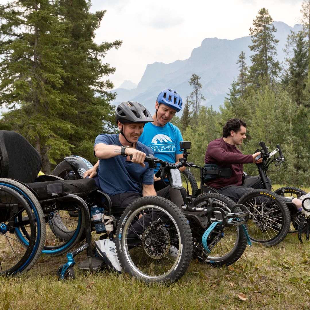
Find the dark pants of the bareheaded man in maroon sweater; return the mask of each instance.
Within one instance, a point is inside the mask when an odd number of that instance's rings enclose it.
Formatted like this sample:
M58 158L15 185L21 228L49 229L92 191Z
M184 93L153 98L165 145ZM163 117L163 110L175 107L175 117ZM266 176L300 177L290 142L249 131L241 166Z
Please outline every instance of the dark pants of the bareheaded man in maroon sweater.
M271 184L269 177L267 177L267 179ZM246 178L241 186L228 185L218 189L218 191L237 202L241 196L254 188L263 188L259 175Z

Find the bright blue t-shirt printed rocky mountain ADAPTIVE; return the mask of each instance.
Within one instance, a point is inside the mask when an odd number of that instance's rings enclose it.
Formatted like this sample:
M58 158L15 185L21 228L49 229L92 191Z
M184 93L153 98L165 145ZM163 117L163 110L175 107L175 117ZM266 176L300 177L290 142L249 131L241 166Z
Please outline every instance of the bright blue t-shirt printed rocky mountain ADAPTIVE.
M171 164L176 162L175 155L182 154L180 151L180 141L183 141L181 131L169 122L165 126L146 123L139 141L148 146L154 152L155 157ZM154 173L157 170L158 167L154 169Z

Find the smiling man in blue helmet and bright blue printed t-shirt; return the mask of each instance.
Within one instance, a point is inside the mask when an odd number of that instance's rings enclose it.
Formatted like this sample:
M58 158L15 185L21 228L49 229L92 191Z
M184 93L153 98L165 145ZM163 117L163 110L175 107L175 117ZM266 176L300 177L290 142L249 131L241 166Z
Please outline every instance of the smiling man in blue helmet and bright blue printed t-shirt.
M154 156L170 163L178 163L182 158L180 141L183 141L179 128L170 123L176 112L182 110L182 98L173 89L164 89L157 97L153 123L147 123L139 141L154 152ZM158 167L154 169L154 188L160 190L166 183L155 177ZM179 170L185 170L185 167ZM167 181L167 179L165 179Z

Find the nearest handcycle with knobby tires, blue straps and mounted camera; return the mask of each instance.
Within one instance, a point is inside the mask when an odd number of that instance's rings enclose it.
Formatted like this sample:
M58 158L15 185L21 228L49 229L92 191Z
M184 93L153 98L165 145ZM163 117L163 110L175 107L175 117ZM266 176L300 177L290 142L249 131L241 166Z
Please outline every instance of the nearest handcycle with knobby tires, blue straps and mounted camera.
M160 171L170 179L169 186L181 189L181 184L173 183L171 171L186 166L189 146L189 142L180 145L184 158L178 165L153 156L147 156L145 162L151 167L160 164ZM80 177L84 168L78 161L84 166L85 159L66 157L54 173L58 171L64 178ZM236 206L220 194L204 194L196 201L188 197L182 210L162 197L142 197L131 203L119 220L115 240L118 257L124 270L138 279L173 282L186 271L193 246L194 257L213 265L227 266L239 259L247 244L243 226L247 219L244 206ZM69 256L67 268L74 264L73 255Z

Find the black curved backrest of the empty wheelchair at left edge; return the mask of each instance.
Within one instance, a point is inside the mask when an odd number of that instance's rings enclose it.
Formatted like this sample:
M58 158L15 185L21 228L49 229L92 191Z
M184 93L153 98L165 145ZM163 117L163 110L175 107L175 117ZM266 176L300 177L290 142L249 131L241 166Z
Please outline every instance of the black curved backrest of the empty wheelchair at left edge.
M38 151L15 131L0 130L0 177L31 183L42 160Z

